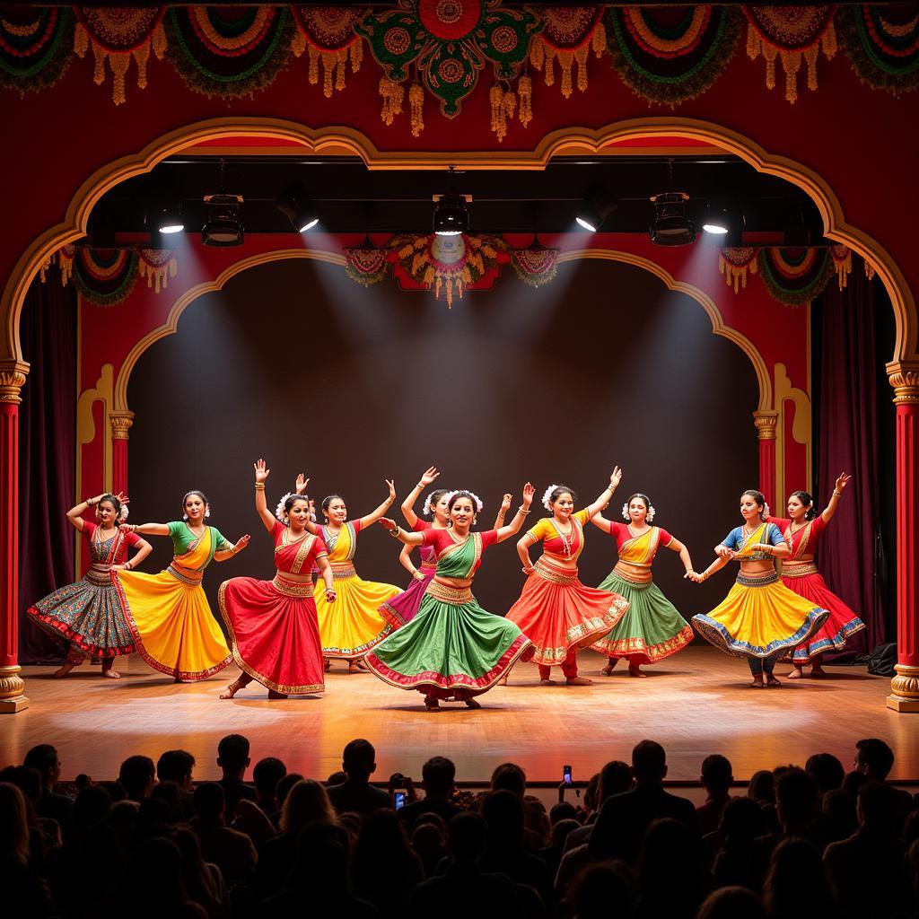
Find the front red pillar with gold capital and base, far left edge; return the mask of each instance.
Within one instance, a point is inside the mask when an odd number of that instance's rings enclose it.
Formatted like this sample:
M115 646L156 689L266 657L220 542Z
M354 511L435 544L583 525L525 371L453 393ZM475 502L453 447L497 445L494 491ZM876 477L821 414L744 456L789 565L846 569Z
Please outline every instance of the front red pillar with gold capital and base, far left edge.
M0 360L0 712L28 709L19 676L19 392L28 364Z

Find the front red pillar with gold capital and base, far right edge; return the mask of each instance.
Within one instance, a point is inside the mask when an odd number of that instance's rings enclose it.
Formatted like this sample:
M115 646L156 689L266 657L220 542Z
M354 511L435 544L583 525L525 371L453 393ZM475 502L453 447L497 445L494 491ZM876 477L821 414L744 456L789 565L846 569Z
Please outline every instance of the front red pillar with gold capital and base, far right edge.
M897 406L897 675L887 707L919 711L919 361L887 371Z

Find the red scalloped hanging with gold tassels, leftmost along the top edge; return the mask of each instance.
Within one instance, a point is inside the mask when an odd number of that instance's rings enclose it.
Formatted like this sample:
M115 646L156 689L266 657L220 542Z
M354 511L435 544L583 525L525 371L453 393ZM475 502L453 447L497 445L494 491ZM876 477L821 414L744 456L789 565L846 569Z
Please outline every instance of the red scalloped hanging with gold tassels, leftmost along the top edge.
M147 85L150 52L163 60L166 48L162 6L77 6L74 51L82 58L90 48L96 60L93 82L106 80L106 62L112 72L112 101L125 100L124 82L130 62L137 64L137 85Z

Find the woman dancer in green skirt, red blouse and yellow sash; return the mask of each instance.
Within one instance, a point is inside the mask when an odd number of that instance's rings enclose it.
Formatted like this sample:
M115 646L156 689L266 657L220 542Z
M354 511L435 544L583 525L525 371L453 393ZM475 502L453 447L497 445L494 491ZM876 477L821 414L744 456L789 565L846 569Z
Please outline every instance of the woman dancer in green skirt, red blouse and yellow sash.
M689 550L665 529L652 527L654 508L647 494L632 494L622 505L622 516L629 523L616 523L600 515L592 523L616 540L619 560L600 584L600 590L613 590L629 601L629 612L616 627L596 644L594 651L606 654L605 675L613 672L620 657L629 658L630 676L647 676L641 664L663 661L692 641L692 626L652 581L651 566L661 546L679 553L686 569L692 572Z

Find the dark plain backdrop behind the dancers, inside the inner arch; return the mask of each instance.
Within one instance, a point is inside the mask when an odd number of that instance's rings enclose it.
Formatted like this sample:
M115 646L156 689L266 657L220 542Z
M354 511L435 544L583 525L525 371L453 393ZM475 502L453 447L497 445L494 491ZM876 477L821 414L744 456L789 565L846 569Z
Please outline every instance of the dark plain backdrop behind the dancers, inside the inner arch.
M480 528L505 491L516 508L527 479L537 487L532 524L550 482L572 485L583 503L618 463L625 475L607 513L619 519L626 497L646 492L655 523L687 543L699 570L758 481L749 361L712 335L696 301L615 262L562 265L538 290L505 269L494 290L471 291L449 311L430 293L391 282L364 289L323 263L256 267L187 309L178 334L134 370L129 401L132 522L176 519L182 495L200 488L228 539L253 534L243 555L211 566L212 606L221 580L272 573L253 510L260 456L271 468L269 506L302 470L317 500L340 492L352 517L385 497L384 476L395 477L401 501L435 464L438 485L482 497ZM581 576L598 584L613 547L596 528L587 536ZM170 555L168 540L153 543L148 571ZM405 584L397 550L370 528L359 573ZM695 586L682 573L662 551L656 580L687 618L732 583L724 572ZM475 592L504 613L521 584L509 540L489 551Z

